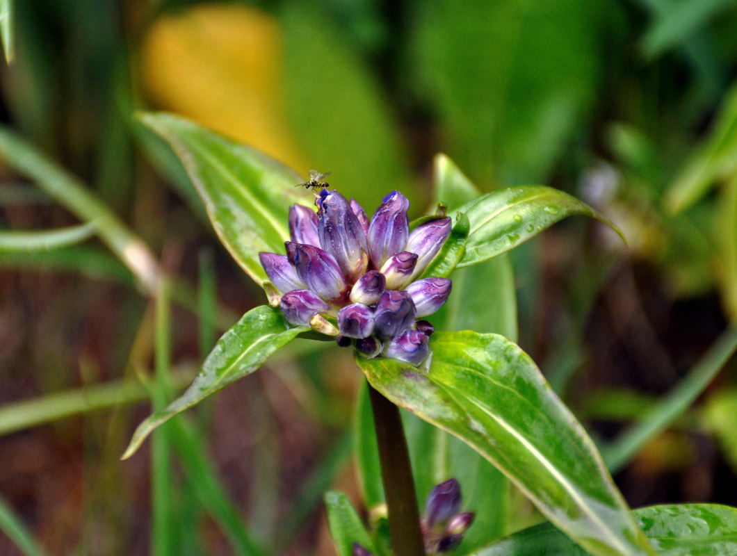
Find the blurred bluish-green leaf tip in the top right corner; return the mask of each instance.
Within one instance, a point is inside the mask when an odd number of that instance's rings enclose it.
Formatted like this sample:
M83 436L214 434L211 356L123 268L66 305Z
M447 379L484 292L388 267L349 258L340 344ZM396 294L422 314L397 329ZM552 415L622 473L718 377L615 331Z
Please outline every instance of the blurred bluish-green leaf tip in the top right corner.
M677 46L709 23L720 12L734 7L732 0L682 0L668 2L642 38L642 49L656 58Z

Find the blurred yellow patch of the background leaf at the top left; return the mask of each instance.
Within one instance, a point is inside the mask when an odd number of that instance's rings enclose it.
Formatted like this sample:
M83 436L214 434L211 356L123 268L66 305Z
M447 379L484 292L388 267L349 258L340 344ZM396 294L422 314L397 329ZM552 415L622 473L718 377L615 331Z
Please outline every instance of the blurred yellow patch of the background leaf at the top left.
M282 31L241 4L200 4L162 16L142 41L142 84L170 110L307 167L284 119Z

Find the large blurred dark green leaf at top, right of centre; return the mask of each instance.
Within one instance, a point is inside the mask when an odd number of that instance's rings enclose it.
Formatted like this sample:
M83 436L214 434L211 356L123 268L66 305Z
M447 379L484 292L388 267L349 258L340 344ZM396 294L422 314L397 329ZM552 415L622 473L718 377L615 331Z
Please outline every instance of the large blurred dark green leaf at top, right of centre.
M408 83L439 114L461 167L502 185L545 180L595 99L601 10L586 0L414 4Z

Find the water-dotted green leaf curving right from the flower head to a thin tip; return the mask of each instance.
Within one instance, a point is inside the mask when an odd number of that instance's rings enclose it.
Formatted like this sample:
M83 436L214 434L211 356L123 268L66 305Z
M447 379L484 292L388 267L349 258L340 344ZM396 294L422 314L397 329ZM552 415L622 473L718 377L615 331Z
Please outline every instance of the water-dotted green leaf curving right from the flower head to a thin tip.
M573 214L601 220L624 240L619 228L609 219L576 197L546 186L493 191L463 205L458 212L466 214L471 222L466 253L458 268L506 253Z

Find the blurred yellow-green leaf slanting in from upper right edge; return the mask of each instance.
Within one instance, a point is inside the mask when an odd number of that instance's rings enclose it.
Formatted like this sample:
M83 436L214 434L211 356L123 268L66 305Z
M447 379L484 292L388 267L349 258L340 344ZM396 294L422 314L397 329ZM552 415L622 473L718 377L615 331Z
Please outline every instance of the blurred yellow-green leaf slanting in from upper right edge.
M724 96L716 123L666 191L674 214L694 205L710 186L737 172L737 84Z

